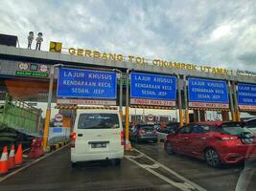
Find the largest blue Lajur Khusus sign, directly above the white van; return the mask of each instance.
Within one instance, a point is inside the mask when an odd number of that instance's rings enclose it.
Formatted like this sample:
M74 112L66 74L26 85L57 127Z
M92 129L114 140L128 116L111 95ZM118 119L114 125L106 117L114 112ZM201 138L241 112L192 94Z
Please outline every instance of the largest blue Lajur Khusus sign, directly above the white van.
M57 96L115 99L116 84L114 72L59 69Z

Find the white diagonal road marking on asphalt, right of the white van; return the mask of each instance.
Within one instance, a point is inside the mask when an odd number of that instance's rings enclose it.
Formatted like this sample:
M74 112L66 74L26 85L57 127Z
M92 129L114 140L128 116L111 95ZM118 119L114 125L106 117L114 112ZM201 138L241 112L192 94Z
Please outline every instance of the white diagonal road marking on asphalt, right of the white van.
M165 180L166 182L172 184L173 186L177 187L178 189L180 189L182 191L191 191L191 190L206 191L205 188L203 188L203 187L199 186L198 184L194 183L193 181L188 180L185 177L179 175L174 170L168 168L167 166L161 164L160 162L158 162L154 159L151 159L149 156L145 155L138 149L132 148L132 150L138 152L140 154L139 156L146 157L147 159L150 159L154 163L152 165L141 164L135 160L135 159L137 159L137 156L135 156L135 157L134 156L125 156L125 158L132 161L133 163L137 164L141 168L144 168L145 170L151 172L151 174L153 174L157 178L159 178L161 180ZM178 178L179 180L183 180L184 182L175 182L174 180L171 180L171 179L161 175L160 173L156 172L155 170L153 170L158 167L162 167L163 169L165 169L166 171L168 171L169 173L174 175L176 178Z

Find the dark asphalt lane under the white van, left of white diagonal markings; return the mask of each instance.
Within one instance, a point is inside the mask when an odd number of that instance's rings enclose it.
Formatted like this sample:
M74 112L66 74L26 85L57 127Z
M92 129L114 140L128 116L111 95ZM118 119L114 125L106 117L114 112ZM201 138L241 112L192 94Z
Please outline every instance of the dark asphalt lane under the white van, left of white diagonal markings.
M0 190L177 190L124 159L121 166L108 162L70 165L68 147L0 183Z

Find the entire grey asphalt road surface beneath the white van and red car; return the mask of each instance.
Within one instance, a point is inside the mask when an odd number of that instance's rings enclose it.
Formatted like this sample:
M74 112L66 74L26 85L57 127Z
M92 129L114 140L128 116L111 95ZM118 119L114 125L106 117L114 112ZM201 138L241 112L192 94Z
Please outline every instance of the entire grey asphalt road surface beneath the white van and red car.
M233 191L237 182L240 182L241 189L237 191L255 191L255 162L247 162L245 166L240 164L214 169L198 159L181 155L169 156L163 151L162 143L141 143L134 145L134 148L206 190ZM137 158L133 159L133 155ZM168 174L163 168L157 168L157 166L155 168L153 165L155 161L146 158L145 155L135 151L128 152L121 166L113 166L111 162L95 161L84 162L72 168L70 149L66 147L10 179L0 182L0 190L180 190L168 180L181 182L181 184L184 181ZM160 176L157 176L159 174Z

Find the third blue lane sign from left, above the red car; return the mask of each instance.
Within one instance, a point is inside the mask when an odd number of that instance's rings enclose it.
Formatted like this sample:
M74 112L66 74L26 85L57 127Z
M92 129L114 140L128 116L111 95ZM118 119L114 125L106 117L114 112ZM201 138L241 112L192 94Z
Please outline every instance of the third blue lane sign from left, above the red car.
M189 78L188 99L191 102L228 103L226 82Z

